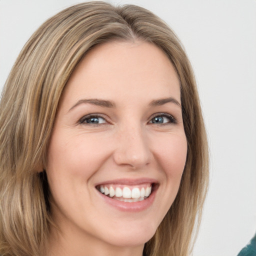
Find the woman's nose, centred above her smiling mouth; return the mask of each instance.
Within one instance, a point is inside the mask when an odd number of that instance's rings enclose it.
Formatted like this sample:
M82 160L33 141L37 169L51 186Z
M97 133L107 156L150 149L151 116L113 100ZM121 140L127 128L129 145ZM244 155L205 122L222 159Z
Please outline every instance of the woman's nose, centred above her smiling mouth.
M125 127L118 132L116 138L116 149L113 153L116 164L126 165L132 169L149 164L152 157L149 141L141 127Z

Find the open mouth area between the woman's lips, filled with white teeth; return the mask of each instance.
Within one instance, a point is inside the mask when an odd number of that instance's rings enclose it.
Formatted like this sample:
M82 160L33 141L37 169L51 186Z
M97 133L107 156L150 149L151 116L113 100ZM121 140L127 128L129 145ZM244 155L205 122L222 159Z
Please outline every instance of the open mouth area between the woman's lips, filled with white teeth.
M137 202L148 198L154 186L154 183L144 183L135 186L105 184L97 185L96 189L105 196L118 201Z

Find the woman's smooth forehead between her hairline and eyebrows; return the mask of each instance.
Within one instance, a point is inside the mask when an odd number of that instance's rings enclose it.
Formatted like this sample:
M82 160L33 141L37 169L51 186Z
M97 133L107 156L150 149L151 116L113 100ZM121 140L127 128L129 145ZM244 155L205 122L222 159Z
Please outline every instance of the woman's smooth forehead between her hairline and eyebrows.
M135 93L137 92L137 93ZM114 41L96 45L76 66L63 97L180 98L177 74L157 46L145 41Z

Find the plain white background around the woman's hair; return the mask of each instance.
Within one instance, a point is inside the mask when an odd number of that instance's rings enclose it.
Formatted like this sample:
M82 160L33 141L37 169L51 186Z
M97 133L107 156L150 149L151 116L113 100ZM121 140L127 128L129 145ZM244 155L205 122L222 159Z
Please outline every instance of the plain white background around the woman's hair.
M79 0L0 0L0 88L23 44ZM210 147L210 188L194 256L236 255L256 230L256 0L111 0L152 10L183 42Z

